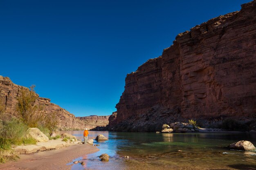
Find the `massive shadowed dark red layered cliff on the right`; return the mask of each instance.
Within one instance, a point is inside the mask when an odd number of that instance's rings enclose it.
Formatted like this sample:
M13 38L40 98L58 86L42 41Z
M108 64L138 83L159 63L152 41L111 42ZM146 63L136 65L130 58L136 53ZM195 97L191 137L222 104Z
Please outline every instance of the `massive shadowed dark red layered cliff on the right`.
M255 119L256 1L241 7L180 33L162 56L128 74L110 126L154 106L180 119Z

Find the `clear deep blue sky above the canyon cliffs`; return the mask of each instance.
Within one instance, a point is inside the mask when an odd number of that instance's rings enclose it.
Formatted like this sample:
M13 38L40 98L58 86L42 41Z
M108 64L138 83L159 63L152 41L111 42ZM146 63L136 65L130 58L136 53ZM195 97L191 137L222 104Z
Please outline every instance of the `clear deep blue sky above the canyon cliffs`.
M110 115L127 73L249 0L0 0L0 75L76 116Z

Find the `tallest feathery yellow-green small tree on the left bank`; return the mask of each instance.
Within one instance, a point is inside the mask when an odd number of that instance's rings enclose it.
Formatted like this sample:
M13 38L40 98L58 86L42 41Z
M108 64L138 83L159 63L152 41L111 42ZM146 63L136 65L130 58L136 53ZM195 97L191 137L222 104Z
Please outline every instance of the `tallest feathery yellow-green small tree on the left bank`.
M25 91L21 92L21 96L18 97L18 103L16 110L21 116L21 120L27 124L27 126L33 128L43 123L42 108L36 105L36 99L38 95L35 93L36 86L30 86L29 93Z

